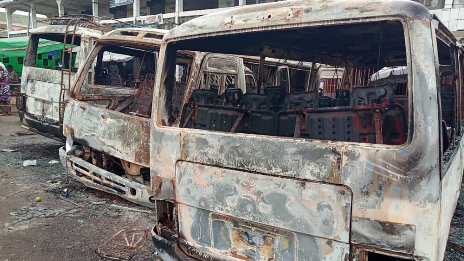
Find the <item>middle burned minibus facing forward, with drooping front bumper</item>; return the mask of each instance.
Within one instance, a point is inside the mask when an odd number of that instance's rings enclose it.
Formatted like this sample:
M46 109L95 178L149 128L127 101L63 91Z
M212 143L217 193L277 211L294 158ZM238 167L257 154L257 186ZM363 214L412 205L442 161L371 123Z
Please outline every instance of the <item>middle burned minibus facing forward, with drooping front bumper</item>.
M84 185L154 207L149 173L150 117L161 39L166 30L124 28L103 35L83 64L64 110L67 147L60 159ZM176 54L170 106L181 110L186 89L245 89L240 57ZM254 78L250 80L256 85ZM195 87L191 87L195 85ZM188 86L188 88L187 88Z

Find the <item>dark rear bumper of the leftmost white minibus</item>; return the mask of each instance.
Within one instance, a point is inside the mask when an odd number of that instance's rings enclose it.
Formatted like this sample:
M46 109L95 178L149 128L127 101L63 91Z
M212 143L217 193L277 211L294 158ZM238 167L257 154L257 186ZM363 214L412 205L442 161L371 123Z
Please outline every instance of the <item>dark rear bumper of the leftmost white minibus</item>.
M19 120L23 123L21 127L28 131L53 140L64 141L64 136L60 134L58 125L36 120L23 110L19 110Z

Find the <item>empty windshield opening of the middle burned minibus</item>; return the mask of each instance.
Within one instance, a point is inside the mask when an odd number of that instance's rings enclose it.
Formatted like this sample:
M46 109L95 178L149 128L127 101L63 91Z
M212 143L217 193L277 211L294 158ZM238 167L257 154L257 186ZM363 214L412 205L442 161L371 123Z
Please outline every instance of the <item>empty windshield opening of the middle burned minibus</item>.
M156 46L102 45L90 65L93 70L88 74L89 83L82 86L77 98L124 114L150 118L158 51ZM177 55L174 103L179 95L183 97L192 59L186 54Z

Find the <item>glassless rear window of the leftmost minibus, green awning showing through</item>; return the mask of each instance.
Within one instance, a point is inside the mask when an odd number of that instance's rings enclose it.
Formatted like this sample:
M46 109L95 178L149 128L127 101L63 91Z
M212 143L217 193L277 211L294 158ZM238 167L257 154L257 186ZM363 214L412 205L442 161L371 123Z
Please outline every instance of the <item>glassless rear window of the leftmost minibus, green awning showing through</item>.
M73 43L72 48L71 43ZM79 48L78 35L74 36L74 42L69 35L64 45L64 34L32 34L25 65L50 70L71 69L72 72L76 72L79 66Z

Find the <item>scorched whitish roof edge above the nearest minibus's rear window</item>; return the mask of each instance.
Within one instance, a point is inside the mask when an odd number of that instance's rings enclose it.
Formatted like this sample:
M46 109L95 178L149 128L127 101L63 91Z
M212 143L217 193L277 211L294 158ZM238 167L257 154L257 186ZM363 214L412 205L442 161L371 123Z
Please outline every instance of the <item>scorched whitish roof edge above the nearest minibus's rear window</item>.
M199 38L211 34L249 32L273 26L283 29L292 25L343 19L380 16L406 19L429 19L428 9L412 0L286 0L241 6L189 20L166 33L164 41Z

